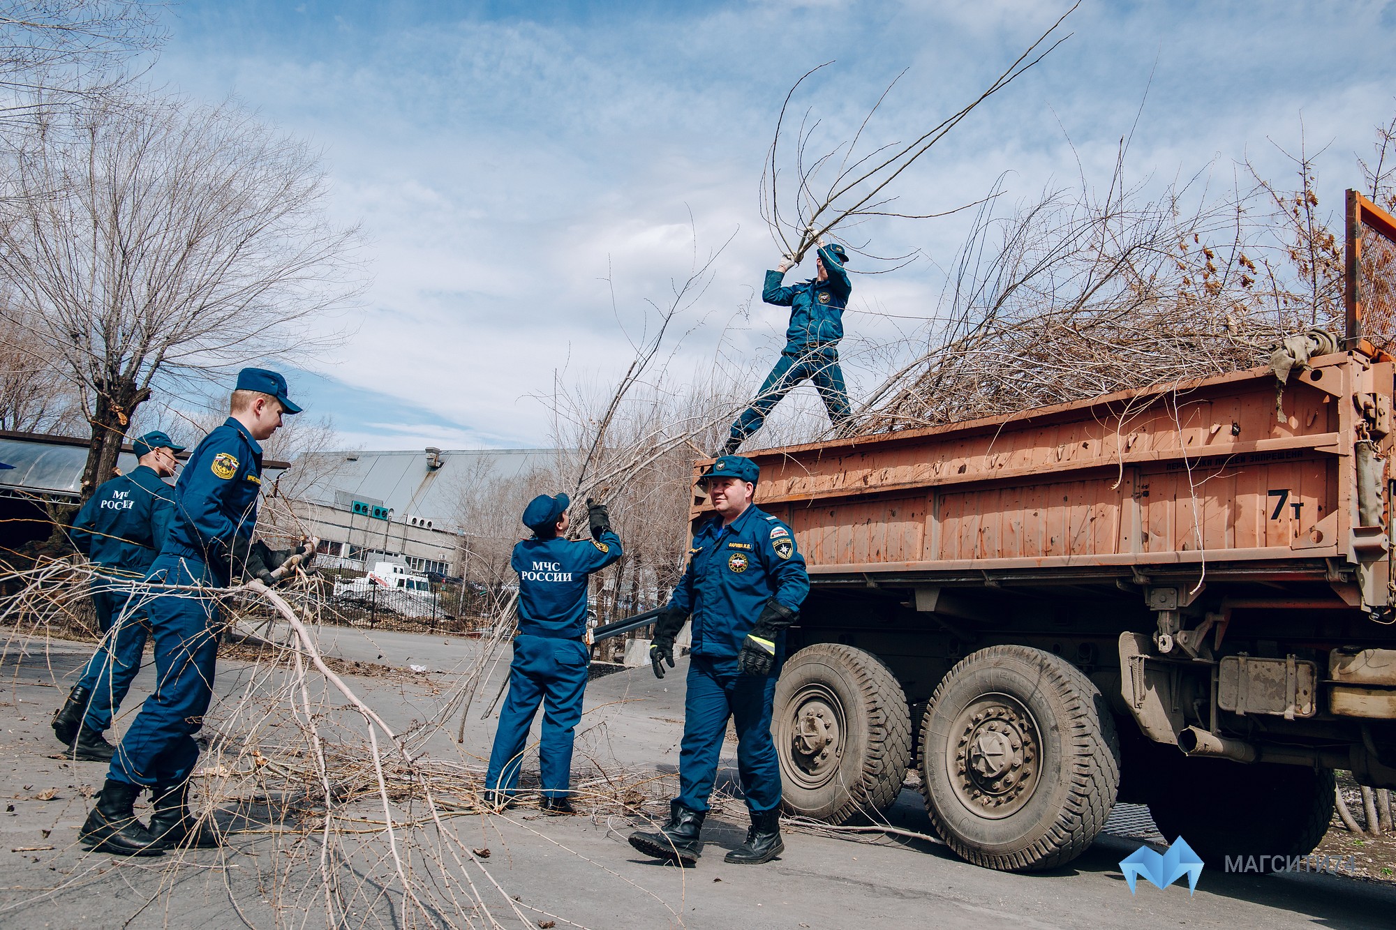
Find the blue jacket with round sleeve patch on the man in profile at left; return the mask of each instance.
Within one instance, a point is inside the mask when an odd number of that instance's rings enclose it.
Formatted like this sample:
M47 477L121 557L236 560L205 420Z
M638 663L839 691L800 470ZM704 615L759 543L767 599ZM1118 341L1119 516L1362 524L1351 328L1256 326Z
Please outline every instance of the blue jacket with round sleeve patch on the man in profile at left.
M253 535L261 492L261 445L228 420L194 447L174 485L174 518L162 552L197 559L226 584L235 536Z

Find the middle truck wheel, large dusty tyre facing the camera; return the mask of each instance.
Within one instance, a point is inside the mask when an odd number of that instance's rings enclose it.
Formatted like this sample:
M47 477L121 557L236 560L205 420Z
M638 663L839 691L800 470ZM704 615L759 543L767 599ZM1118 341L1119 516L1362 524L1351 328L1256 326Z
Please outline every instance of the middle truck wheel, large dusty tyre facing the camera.
M1120 743L1099 688L1030 647L990 647L951 669L926 708L920 750L931 822L986 869L1071 862L1120 789Z

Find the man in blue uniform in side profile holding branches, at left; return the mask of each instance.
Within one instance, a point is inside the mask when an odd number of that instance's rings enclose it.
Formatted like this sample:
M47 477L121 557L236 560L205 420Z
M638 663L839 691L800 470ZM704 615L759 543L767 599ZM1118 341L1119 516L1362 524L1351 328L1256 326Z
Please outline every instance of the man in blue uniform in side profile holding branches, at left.
M300 412L286 397L286 380L267 369L243 369L229 412L184 464L165 545L145 577L155 593L148 617L156 686L121 739L78 834L99 852L155 856L168 848L219 845L218 834L188 811L188 776L198 758L194 733L212 698L222 630L215 592L242 574L274 584L272 571L300 552L272 552L251 539L261 490L260 443L281 427L283 413ZM147 788L154 807L149 827L133 813Z

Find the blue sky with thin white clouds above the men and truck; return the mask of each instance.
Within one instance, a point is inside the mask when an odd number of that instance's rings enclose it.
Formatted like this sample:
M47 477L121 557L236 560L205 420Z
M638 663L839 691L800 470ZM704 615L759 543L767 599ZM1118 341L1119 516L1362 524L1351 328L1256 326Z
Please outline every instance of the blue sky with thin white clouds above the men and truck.
M533 447L554 371L606 383L623 327L729 237L674 371L715 353L765 364L783 316L750 304L776 250L757 184L789 85L829 137L909 68L881 138L958 109L1068 4L979 3L243 3L188 0L151 80L233 94L324 151L334 215L360 222L374 285L332 325L353 335L293 373L346 445ZM1339 205L1354 156L1396 112L1396 4L1083 3L1072 38L979 110L905 179L903 205L942 209L1009 172L1011 197L1101 182L1149 87L1135 177L1234 163L1290 170L1304 127L1319 194ZM1152 75L1152 84L1150 84ZM896 134L893 134L896 133ZM690 226L690 216L692 225ZM962 218L868 228L910 268L854 279L850 330L875 341L923 316ZM610 283L607 283L607 278ZM611 290L614 289L614 304ZM863 310L864 313L860 313ZM733 327L725 332L725 325ZM877 371L850 364L854 392Z

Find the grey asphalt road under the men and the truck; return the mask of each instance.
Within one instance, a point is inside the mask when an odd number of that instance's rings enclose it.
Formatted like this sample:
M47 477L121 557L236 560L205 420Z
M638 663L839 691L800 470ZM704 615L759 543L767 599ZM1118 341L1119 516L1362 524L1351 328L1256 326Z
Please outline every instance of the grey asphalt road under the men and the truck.
M419 676L420 684L410 677L353 679L394 725L429 716L447 691L451 669L477 648L441 637L331 633L324 645L343 658L378 660L383 655L381 662L395 667L410 660L431 669ZM278 859L278 848L262 835L235 835L228 855L202 852L144 862L119 862L77 846L77 827L91 803L82 786L99 786L105 767L52 758L57 747L47 721L88 652L78 644L32 641L21 649L14 640L4 649L0 795L14 810L0 813L0 927L322 926L313 876L278 874L276 863L285 859ZM422 658L426 662L417 660ZM579 728L578 764L671 772L678 754L683 670L680 666L663 681L648 669L593 681ZM144 672L137 680L127 714L149 688L148 676ZM251 680L250 667L225 662L219 691L233 695ZM482 694L493 697L496 690L486 686ZM470 714L463 746L443 737L431 743L431 751L461 753L479 762L494 728L494 719L480 719L479 709ZM730 783L734 761L725 764ZM902 793L889 818L906 829L931 832L914 792ZM510 898L517 896L514 903L528 920L514 916L501 896L491 905L501 926L539 926L549 919L558 927L571 922L597 930L1396 926L1396 888L1342 876L1238 876L1209 863L1195 895L1185 885L1159 890L1143 880L1131 895L1118 863L1148 835L1141 809L1121 807L1113 818L1113 829L1127 835L1101 835L1068 867L1037 874L977 869L935 842L805 832L787 834L786 853L773 863L727 866L722 855L741 842L745 824L740 820L740 810L711 818L708 849L688 871L635 853L625 842L634 828L628 817L551 818L514 810L450 824L472 845L493 850L490 874ZM350 926L395 926L395 915L387 905L366 906ZM476 926L490 924L477 916Z

